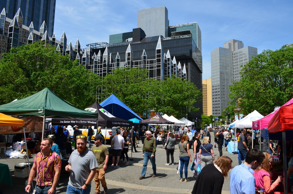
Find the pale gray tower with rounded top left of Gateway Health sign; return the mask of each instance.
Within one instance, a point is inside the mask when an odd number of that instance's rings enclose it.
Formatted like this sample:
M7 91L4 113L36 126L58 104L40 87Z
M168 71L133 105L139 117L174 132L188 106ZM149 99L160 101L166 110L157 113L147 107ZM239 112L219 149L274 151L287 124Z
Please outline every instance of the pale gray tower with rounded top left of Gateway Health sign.
M168 37L168 9L165 6L137 11L137 28L144 30L147 37Z

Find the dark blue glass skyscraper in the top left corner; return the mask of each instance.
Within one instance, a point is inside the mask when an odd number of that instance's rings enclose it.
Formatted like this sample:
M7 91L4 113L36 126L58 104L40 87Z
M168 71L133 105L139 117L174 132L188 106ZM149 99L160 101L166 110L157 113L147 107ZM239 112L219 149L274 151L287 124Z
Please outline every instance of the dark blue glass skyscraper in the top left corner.
M23 16L23 25L30 26L33 22L35 29L40 29L45 21L47 25L47 33L50 37L54 31L54 18L56 0L1 0L0 9L7 13L8 18L13 18L20 8Z

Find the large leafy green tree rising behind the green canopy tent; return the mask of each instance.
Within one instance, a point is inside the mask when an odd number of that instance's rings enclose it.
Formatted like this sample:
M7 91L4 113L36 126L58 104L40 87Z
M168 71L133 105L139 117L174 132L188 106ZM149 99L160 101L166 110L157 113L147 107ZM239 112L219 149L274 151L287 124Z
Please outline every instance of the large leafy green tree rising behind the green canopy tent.
M85 108L96 99L99 77L56 47L40 42L11 48L0 61L0 104L32 95L46 87L60 98Z

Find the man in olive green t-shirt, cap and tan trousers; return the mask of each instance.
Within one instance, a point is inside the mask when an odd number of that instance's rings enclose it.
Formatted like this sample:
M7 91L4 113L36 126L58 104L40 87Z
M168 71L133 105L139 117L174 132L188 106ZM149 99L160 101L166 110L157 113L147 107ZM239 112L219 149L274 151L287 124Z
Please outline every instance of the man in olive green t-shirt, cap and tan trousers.
M93 147L92 152L95 154L97 162L98 162L98 168L96 175L94 177L95 179L95 194L100 193L100 181L102 184L102 187L104 188L104 192L108 193L107 183L105 181L105 170L107 169L108 159L109 159L109 151L108 148L102 144L103 137L100 135L96 135L95 137L95 144L96 146Z

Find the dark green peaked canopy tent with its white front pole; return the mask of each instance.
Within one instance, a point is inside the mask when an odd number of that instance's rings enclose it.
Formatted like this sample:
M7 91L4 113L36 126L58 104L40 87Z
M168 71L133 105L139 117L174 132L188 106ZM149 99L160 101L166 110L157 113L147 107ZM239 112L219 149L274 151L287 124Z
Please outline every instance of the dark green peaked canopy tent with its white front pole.
M18 101L0 105L0 113L13 116L35 115L43 117L44 138L46 118L95 118L98 119L98 113L91 113L76 108L74 105L59 98L49 88L45 88L38 93L23 98Z

